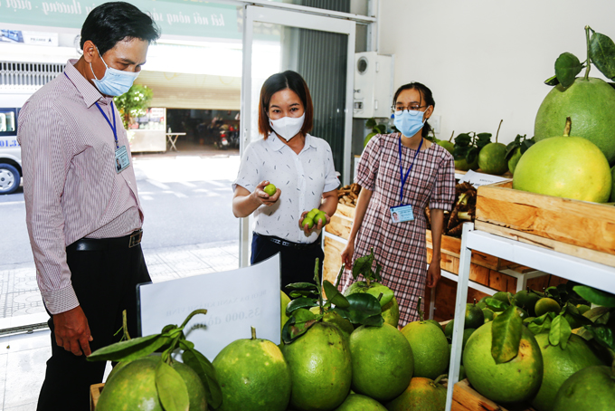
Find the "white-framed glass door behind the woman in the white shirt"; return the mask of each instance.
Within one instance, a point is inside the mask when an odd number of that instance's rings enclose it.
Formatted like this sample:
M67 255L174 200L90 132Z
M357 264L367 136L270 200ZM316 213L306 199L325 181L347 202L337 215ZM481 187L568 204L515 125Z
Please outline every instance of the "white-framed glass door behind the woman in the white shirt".
M314 102L314 129L333 151L340 180L350 179L355 22L269 9L243 8L240 153L259 136L258 100L276 72L301 74ZM240 265L250 262L251 218L241 219Z

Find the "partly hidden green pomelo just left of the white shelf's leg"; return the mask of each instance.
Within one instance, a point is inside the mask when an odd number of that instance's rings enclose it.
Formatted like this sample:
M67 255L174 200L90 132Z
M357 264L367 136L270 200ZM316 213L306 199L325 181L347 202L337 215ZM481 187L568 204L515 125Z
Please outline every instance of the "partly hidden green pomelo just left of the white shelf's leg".
M435 379L449 368L449 342L441 329L425 321L414 321L402 328L414 356L414 377Z

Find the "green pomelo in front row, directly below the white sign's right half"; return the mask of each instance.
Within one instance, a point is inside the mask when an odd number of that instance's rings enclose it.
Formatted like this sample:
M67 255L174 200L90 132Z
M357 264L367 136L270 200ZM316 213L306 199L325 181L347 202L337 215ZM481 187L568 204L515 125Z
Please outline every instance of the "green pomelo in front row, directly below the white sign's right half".
M290 370L268 339L236 339L213 359L222 389L219 411L284 411L290 399Z

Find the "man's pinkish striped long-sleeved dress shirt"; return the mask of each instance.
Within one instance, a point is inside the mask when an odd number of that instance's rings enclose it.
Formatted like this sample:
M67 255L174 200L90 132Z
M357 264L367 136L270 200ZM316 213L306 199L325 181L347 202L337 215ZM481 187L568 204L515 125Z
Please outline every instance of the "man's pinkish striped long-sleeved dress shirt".
M70 60L35 92L19 113L26 223L36 277L52 314L79 305L66 263L66 246L80 238L113 238L143 224L131 164L117 173L113 99L104 97ZM118 145L130 148L115 111ZM93 286L95 286L93 284Z

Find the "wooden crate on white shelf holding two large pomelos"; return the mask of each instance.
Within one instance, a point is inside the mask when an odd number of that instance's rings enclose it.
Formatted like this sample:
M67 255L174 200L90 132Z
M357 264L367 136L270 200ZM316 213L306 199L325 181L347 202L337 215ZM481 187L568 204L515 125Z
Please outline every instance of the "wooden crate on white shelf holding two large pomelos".
M615 267L615 207L512 188L478 187L475 227Z

